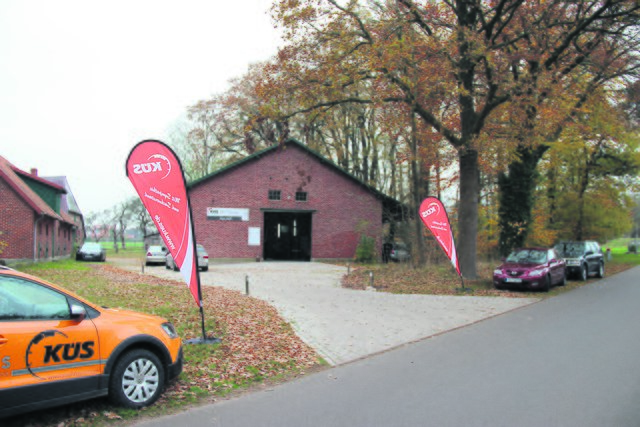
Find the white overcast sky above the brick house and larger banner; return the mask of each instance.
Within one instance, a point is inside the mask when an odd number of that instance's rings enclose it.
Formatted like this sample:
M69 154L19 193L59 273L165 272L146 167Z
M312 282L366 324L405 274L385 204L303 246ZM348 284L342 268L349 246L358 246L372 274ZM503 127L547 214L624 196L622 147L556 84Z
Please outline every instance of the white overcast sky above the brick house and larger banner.
M276 53L271 3L0 0L0 156L67 176L85 215L135 196L131 148Z

